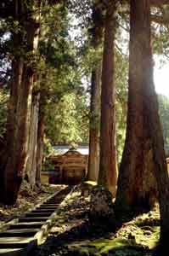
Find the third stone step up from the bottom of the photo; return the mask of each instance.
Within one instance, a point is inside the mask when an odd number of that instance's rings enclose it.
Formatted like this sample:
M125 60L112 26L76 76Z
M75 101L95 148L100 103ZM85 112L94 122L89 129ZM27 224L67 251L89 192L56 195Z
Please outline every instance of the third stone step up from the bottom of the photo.
M0 237L13 237L13 236L34 236L39 229L14 229L6 230L0 233Z

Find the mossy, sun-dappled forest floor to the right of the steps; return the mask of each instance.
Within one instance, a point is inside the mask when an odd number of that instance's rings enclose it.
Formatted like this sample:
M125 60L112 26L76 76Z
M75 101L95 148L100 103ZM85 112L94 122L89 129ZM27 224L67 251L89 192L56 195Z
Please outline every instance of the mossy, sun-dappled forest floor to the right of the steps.
M159 211L140 214L121 227L93 226L88 220L89 196L76 186L59 207L47 241L37 256L154 256L159 240Z

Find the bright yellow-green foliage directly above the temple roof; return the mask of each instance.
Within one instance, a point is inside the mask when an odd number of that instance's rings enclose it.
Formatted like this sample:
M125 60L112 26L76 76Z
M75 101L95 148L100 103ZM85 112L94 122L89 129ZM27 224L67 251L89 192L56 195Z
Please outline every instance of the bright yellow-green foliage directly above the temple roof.
M65 94L57 104L48 106L46 134L51 143L86 142L87 102L85 96Z

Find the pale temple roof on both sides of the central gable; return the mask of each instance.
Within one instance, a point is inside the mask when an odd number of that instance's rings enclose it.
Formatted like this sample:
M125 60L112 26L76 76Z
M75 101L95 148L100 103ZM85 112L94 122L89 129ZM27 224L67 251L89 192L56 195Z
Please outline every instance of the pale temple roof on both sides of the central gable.
M70 150L71 145L69 144L58 144L54 146L54 154L65 154L67 151ZM79 144L78 147L76 148L76 151L87 155L88 154L88 144L87 143L82 143Z

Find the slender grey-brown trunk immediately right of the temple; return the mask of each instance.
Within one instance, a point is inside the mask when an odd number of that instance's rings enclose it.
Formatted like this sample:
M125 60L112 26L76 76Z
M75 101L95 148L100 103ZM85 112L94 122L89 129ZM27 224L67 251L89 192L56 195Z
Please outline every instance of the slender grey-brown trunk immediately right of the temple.
M89 130L88 179L97 181L99 176L99 124L100 124L101 64L92 72Z

